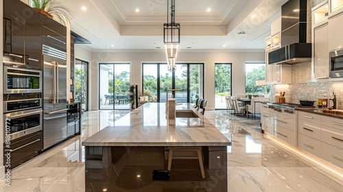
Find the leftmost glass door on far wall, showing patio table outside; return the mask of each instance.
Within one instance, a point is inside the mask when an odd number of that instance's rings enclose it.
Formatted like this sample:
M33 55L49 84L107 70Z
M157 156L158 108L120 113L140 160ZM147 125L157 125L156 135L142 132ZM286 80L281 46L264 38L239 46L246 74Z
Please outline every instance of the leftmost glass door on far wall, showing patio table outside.
M99 109L130 110L130 64L99 64Z

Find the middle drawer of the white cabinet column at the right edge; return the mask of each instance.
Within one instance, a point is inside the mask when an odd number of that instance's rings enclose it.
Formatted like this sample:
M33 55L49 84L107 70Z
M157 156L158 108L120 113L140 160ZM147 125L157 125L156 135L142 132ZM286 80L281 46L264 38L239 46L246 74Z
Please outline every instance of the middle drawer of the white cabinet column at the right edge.
M322 125L322 141L343 149L343 130Z

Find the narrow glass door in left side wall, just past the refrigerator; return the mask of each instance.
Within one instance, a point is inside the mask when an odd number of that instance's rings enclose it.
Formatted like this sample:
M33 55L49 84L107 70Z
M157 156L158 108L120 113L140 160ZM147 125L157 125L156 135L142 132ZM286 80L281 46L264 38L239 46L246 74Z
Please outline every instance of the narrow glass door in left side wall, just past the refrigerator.
M88 62L75 60L75 101L80 101L82 110L88 110Z

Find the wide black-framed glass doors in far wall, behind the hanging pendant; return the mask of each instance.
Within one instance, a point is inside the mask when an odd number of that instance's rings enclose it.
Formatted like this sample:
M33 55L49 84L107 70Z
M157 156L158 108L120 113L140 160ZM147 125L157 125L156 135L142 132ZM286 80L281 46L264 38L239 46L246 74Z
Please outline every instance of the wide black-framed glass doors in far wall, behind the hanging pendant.
M167 64L143 64L143 94L150 102L165 102L168 97L175 97L178 103L194 103L196 98L204 97L204 65L176 64L174 73L167 70Z

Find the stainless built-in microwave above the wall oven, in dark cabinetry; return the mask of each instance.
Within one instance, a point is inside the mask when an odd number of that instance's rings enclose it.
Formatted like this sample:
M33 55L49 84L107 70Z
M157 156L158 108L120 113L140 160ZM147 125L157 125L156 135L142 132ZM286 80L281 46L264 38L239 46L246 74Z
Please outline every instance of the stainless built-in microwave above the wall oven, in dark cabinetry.
M3 68L3 93L42 92L42 71L10 66Z

